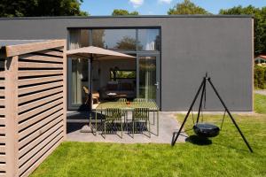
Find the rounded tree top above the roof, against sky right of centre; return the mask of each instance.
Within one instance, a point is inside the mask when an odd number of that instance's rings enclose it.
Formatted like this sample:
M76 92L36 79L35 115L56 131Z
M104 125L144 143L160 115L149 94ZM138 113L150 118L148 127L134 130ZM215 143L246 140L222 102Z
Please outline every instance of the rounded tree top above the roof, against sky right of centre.
M205 9L196 4L193 4L190 0L184 0L183 3L176 4L173 8L169 9L168 15L180 15L180 14L210 14Z

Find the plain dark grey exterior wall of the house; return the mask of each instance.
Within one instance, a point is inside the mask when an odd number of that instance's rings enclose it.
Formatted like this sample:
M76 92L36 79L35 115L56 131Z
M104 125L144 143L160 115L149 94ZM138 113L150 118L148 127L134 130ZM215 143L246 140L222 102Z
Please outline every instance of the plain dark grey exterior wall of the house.
M67 27L160 27L162 111L188 110L206 72L231 111L253 110L251 17L0 19L0 39L66 39ZM207 110L223 110L209 87Z

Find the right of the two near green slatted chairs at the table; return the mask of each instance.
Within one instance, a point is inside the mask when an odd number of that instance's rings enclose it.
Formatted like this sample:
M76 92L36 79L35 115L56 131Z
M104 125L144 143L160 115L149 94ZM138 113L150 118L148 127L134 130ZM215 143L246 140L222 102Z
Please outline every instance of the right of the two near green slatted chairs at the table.
M135 108L132 114L132 133L134 138L135 126L137 122L145 123L145 127L149 132L149 137L151 137L151 123L149 119L149 108Z

